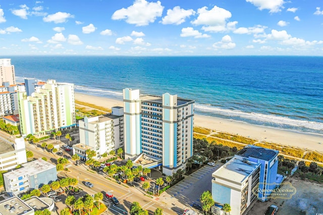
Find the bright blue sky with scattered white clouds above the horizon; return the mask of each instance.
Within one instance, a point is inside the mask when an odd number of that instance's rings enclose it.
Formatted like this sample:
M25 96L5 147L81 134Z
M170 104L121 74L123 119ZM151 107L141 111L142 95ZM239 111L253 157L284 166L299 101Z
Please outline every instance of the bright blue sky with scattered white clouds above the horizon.
M323 55L322 0L0 0L0 56Z

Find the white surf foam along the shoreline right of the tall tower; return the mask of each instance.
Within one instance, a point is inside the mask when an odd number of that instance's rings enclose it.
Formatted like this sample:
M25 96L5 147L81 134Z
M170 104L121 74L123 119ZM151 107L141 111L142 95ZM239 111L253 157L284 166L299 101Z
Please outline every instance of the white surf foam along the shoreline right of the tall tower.
M311 122L305 120L295 120L288 117L281 117L275 115L257 114L257 113L246 113L239 110L226 110L209 105L195 104L195 110L201 112L208 112L217 115L227 116L227 117L241 117L248 120L254 120L259 122L283 124L295 127L304 127L314 130L323 130L323 123Z

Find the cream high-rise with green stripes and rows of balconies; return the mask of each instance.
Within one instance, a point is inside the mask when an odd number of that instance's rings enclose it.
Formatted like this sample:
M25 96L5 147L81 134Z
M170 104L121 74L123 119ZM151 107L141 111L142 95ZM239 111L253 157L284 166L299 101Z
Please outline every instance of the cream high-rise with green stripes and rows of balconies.
M17 85L20 130L23 136L49 135L76 126L74 84L25 79Z

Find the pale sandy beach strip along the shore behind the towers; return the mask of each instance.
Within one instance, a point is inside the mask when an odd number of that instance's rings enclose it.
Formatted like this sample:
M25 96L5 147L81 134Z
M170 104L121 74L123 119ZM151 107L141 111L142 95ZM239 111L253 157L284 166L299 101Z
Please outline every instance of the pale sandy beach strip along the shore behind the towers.
M82 93L75 93L75 100L93 103L98 106L105 106L106 108L123 106L123 101L121 100L92 96ZM323 152L323 135L273 129L202 115L194 116L194 126L209 128L231 134L238 134L259 141L279 143L282 145Z

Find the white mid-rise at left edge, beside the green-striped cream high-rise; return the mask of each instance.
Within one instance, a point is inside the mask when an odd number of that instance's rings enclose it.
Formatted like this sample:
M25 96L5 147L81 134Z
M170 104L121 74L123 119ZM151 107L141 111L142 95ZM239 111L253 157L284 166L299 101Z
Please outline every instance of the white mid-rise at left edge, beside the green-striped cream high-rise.
M9 81L0 86L0 117L18 114L17 86Z

